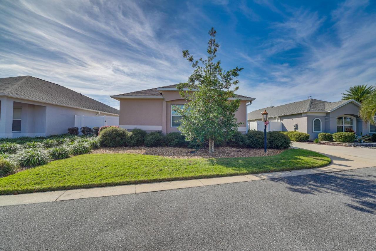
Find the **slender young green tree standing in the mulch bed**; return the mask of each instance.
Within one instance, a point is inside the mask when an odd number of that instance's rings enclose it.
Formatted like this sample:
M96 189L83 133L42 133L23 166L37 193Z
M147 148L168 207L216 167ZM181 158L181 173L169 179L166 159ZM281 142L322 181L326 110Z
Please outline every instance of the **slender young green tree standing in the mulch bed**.
M209 30L208 58L194 60L188 50L183 50L183 57L192 63L194 71L185 83L179 83L177 89L180 96L191 100L183 108L173 110L183 117L178 129L187 140L206 143L209 152L214 152L214 142L227 140L237 132L238 126L235 111L238 110L240 99L235 97L239 83L234 80L243 68L224 71L221 61L214 62L219 44L215 42L217 32ZM187 91L188 89L189 91Z

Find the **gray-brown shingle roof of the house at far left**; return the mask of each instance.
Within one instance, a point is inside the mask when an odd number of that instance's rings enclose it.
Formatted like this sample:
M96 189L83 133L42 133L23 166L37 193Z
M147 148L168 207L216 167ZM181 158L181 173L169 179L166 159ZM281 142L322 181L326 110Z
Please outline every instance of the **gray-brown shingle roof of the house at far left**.
M62 106L119 114L119 110L76 91L32 76L0 78L0 93Z

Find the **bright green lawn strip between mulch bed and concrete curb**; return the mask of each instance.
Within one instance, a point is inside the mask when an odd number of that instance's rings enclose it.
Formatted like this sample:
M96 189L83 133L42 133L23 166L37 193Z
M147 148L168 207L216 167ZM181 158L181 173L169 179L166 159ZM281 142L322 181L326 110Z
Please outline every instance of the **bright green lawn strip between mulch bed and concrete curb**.
M217 159L85 154L0 178L0 194L276 172L321 167L329 163L330 158L303 149L288 149L267 157Z

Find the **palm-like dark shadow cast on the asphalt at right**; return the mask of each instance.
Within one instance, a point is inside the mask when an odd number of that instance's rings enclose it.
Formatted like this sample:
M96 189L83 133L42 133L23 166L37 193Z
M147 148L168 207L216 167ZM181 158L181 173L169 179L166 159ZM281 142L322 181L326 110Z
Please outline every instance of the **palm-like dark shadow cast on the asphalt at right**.
M376 181L370 180L368 176L374 178L373 175L359 175L355 172L333 172L303 175L297 178L279 178L271 181L287 184L288 190L302 194L340 193L351 198L351 204L344 203L348 207L375 214Z

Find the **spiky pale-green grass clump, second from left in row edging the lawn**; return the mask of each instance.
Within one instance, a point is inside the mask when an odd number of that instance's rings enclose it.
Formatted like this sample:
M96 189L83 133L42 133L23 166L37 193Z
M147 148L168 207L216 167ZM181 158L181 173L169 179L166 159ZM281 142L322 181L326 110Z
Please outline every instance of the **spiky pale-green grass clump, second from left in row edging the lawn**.
M24 149L15 157L20 166L39 166L50 161L50 155L42 149Z

